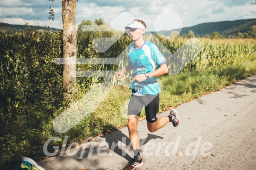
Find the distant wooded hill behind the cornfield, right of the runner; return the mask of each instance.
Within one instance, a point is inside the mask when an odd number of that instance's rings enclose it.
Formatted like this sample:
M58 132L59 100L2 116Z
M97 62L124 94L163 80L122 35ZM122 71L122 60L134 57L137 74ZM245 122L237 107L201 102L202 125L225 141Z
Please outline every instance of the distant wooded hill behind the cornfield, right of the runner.
M242 19L235 21L220 21L220 22L208 22L202 23L198 25L194 25L191 27L182 28L180 35L186 34L189 30L192 30L195 35L200 35L201 37L210 35L213 32L219 32L221 35L238 35L238 32L242 33L250 33L250 28L252 25L256 25L255 19ZM168 30L168 31L160 31L158 34L169 36L172 31L177 31L178 29Z

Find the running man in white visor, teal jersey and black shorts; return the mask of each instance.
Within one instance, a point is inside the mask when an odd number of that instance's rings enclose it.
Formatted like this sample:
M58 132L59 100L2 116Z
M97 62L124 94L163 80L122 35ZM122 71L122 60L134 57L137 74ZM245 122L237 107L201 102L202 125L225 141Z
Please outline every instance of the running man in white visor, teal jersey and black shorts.
M147 26L144 21L135 19L125 29L130 29L133 44L128 47L130 63L121 71L115 73L115 78L120 80L126 72L133 71L133 83L130 85L132 96L128 105L128 130L134 158L123 170L134 170L142 166L140 155L140 138L137 124L143 105L145 106L148 130L154 132L172 122L174 127L180 123L177 111L172 109L168 116L158 118L160 87L157 76L166 74L168 67L166 59L158 47L143 39Z

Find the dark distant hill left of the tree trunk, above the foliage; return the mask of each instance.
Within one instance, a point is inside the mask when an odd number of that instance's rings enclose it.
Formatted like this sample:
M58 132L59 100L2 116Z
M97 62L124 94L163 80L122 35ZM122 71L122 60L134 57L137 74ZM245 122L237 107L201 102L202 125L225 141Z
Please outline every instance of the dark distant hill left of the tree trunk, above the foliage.
M34 25L30 25L31 29L34 29ZM45 27L39 27L41 30L46 30ZM55 30L56 28L52 28L52 30ZM26 32L26 27L24 25L12 25L0 22L0 32L6 32L7 34L13 34L14 32Z

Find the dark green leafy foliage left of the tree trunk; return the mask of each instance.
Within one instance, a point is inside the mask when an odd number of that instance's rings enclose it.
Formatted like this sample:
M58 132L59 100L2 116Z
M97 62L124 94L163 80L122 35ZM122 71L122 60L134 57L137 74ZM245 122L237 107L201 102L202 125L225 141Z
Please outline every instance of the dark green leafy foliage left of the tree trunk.
M53 63L61 57L61 33L27 29L26 35L0 36L1 164L31 154L41 142L40 124L67 106L62 66Z

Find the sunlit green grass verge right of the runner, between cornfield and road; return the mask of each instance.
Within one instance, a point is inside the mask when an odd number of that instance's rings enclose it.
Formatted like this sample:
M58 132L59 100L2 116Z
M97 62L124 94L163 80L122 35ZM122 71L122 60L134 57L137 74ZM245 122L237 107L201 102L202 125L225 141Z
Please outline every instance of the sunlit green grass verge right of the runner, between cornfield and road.
M191 99L224 88L256 73L256 61L245 61L212 69L181 72L162 76L164 89L160 94L160 109L177 107Z

